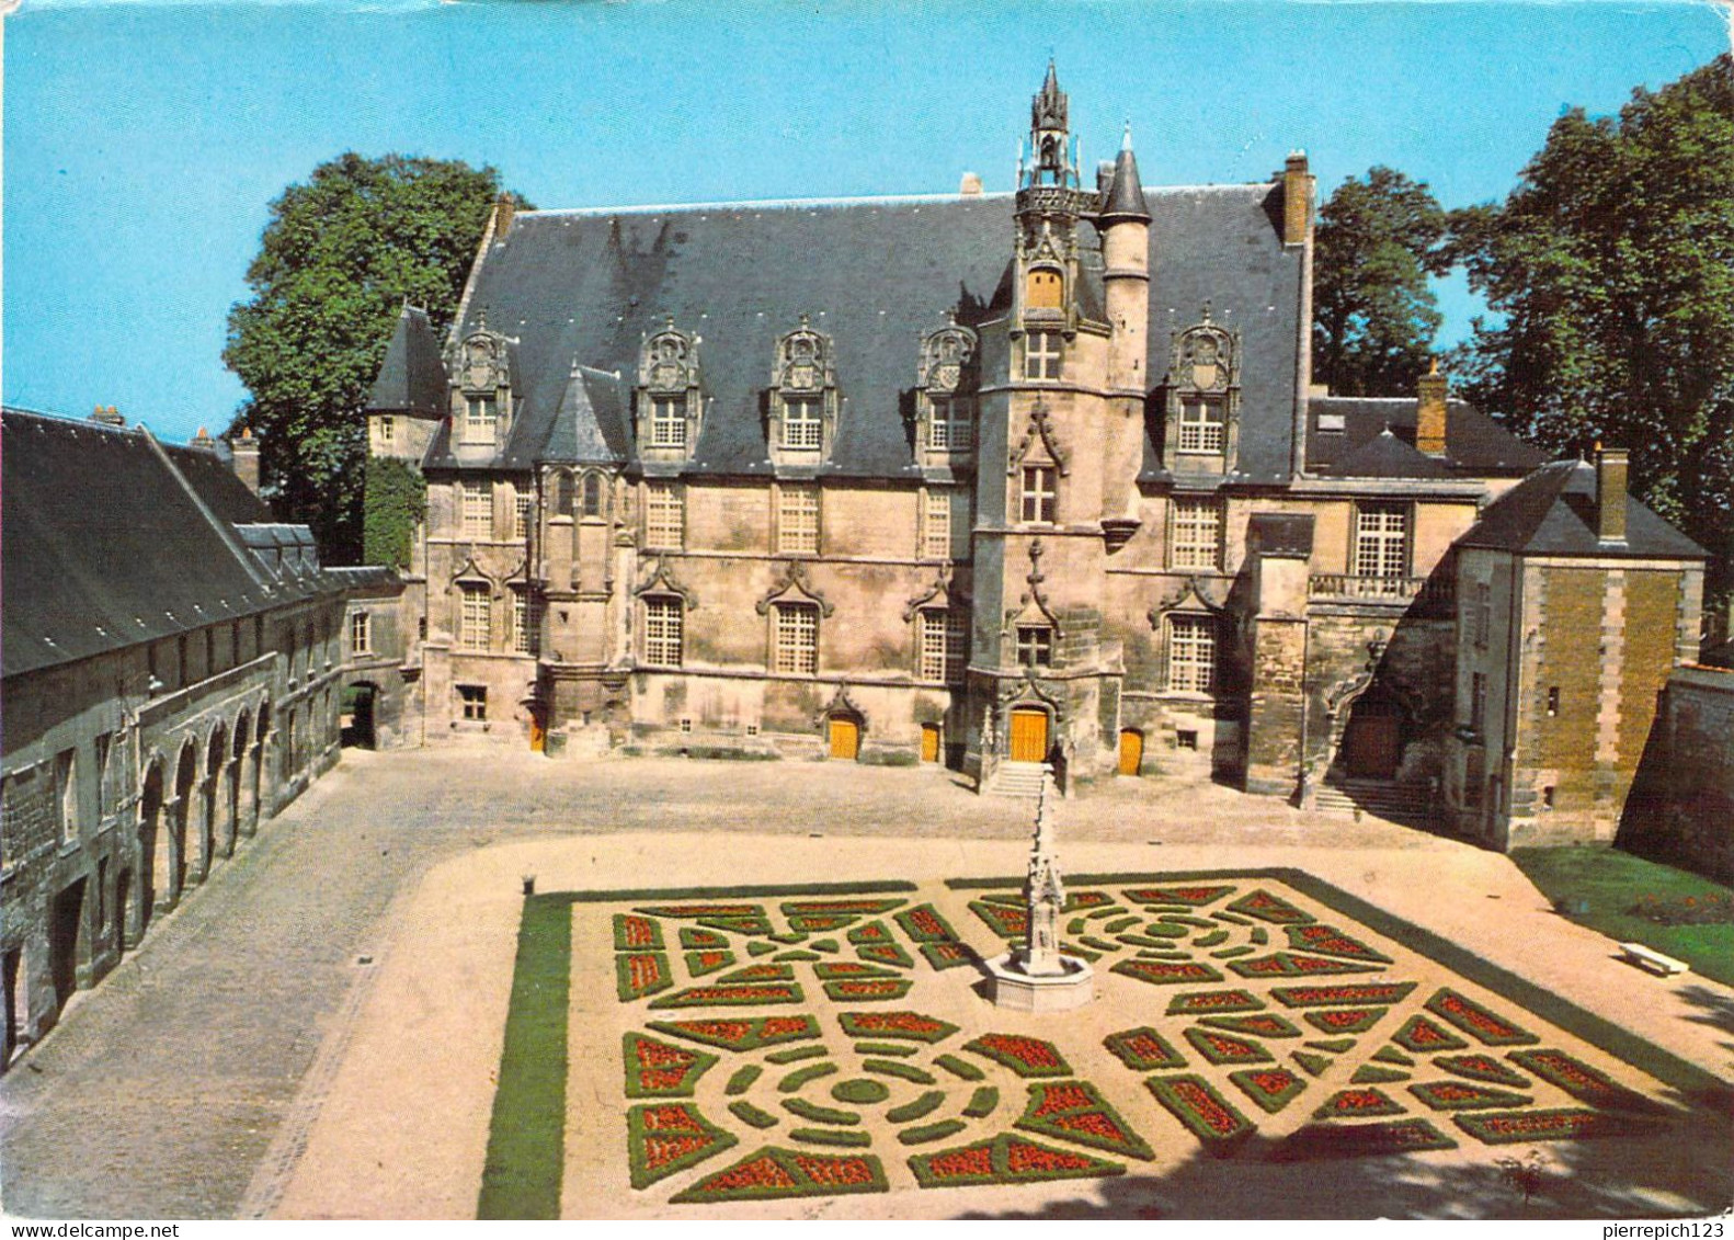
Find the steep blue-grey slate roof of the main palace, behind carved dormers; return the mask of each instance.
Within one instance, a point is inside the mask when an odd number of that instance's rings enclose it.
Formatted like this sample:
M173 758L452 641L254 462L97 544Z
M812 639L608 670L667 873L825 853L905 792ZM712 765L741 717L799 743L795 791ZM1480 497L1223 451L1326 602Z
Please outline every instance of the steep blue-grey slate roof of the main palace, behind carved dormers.
M1170 333L1196 323L1209 300L1214 321L1245 342L1240 477L1287 477L1300 258L1281 245L1281 187L1160 189L1144 203L1148 375L1160 382ZM518 212L477 264L458 328L468 335L486 312L515 340L515 425L498 454L477 458L453 451L442 432L425 465L524 468L538 454L560 460L572 444L595 451L598 441L612 460L633 461L638 349L673 317L701 336L706 390L704 428L683 472L770 473L763 394L772 356L806 314L834 342L843 395L834 451L818 473L919 479L903 414L921 336L948 310L975 326L1004 312L1013 208L1011 194L971 194ZM1099 316L1101 257L1089 225L1080 243L1080 305ZM432 342L432 330L425 336ZM590 368L583 399L570 390L574 364ZM610 388L600 376L616 373L623 378ZM567 428L565 413L581 418L586 402L595 428ZM1153 461L1146 446L1146 475Z

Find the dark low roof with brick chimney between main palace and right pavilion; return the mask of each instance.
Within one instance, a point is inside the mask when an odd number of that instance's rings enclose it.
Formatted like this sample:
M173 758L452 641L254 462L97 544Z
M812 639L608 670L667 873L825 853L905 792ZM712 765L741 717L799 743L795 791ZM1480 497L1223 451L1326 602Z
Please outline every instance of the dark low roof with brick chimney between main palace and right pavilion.
M1320 430L1320 418L1342 418L1340 432ZM1344 477L1349 458L1368 442L1379 439L1389 427L1391 434L1415 444L1415 397L1349 397L1314 395L1307 401L1307 468L1323 477ZM1415 453L1424 461L1434 458ZM1394 458L1392 461L1394 463ZM1450 399L1444 406L1444 461L1443 473L1379 473L1356 477L1514 477L1545 465L1547 456L1522 442L1493 418L1467 401Z

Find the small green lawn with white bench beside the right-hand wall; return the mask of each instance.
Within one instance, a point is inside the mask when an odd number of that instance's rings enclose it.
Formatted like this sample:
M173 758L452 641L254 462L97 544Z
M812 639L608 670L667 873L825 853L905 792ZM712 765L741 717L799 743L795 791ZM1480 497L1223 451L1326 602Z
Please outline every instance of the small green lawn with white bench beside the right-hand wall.
M1639 942L1692 966L1694 973L1734 985L1734 926L1658 926L1630 912L1640 897L1727 897L1729 888L1689 871L1647 862L1613 848L1514 848L1531 883L1568 916L1620 942ZM1587 910L1576 912L1585 900Z

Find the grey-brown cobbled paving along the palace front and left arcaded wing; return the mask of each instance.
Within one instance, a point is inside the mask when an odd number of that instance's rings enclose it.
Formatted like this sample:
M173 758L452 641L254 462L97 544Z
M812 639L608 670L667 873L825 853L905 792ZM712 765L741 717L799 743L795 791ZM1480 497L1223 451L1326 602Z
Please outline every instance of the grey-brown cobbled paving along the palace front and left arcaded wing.
M1075 839L1460 846L1209 784L1122 780L1065 817ZM430 865L505 839L730 827L1018 838L1028 812L936 768L349 753L0 1080L0 1207L232 1217L366 980L357 959L383 949L394 897Z

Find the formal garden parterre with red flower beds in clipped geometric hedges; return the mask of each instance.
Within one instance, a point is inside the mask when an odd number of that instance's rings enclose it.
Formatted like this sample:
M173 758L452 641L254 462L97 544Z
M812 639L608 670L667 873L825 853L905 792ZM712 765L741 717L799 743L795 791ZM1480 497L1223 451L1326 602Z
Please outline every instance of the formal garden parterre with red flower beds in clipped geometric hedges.
M1091 1020L971 989L964 966L1023 933L1013 883L657 897L531 902L541 919L564 902L574 959L612 956L614 994L572 987L570 1044L621 1056L619 1174L676 1214L1196 1155L1493 1157L1682 1115L1587 1041L1594 1018L1571 1032L1490 987L1496 968L1417 952L1403 923L1349 916L1304 876L1075 879L1061 928L1096 961ZM496 1106L496 1139L510 1122ZM506 1197L484 1185L484 1214L510 1214Z

